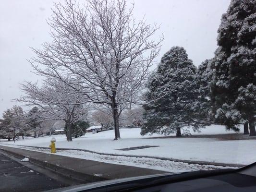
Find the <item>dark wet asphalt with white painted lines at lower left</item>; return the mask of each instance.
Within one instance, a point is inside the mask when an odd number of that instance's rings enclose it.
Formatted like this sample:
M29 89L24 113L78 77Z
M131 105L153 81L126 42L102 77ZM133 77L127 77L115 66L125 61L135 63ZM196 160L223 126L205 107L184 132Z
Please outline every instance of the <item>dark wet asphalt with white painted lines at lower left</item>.
M41 192L65 186L0 153L0 192Z

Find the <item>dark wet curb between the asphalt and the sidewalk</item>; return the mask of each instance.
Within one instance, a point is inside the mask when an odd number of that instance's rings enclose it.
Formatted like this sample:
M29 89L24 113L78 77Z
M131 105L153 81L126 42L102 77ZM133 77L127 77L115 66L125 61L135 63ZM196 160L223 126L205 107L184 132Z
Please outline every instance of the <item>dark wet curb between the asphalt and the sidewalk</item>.
M19 153L15 153L6 149L3 149L0 147L1 151L4 151L7 154L13 155L17 158L25 158L27 156L24 156L22 154ZM103 180L108 180L107 178L103 178L100 176L95 176L95 175L88 175L85 173L80 173L80 172L76 172L70 168L63 168L61 166L57 166L55 164L52 164L50 162L46 162L46 161L41 161L39 159L36 158L32 158L31 156L29 157L29 162L33 163L37 166L43 167L43 168L47 168L51 171L56 172L57 174L60 174L61 176L64 176L66 178L72 179L72 180L77 180L79 182L82 183L89 183L89 182L97 182L97 181L103 181Z

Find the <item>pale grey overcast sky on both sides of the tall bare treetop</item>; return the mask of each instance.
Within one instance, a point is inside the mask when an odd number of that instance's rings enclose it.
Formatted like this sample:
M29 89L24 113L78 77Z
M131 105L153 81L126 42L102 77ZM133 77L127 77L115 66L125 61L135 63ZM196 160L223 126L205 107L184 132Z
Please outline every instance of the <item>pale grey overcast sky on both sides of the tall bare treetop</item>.
M82 0L78 0L82 1ZM134 0L134 17L146 15L147 23L161 24L156 34L164 35L157 58L172 46L182 46L197 66L214 56L217 29L230 0ZM20 83L37 81L26 59L29 47L49 42L52 0L5 0L0 3L0 118L2 112L19 103L11 102L22 94Z

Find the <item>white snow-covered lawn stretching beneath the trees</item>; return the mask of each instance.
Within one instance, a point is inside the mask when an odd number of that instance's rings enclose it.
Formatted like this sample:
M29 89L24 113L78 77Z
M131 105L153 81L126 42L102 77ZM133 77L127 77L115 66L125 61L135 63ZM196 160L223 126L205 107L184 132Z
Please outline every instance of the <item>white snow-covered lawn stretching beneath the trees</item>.
M71 148L71 149L87 149L100 153L118 154L118 155L134 155L134 156L152 156L152 157L166 157L181 160L193 160L193 161L207 161L218 163L230 163L230 164L243 164L247 165L256 161L256 140L230 140L220 141L214 138L157 138L150 137L159 136L154 135L140 135L140 128L134 129L121 129L121 140L112 141L114 136L114 130L99 132L96 134L86 133L84 137L73 139L73 142L67 142L65 135L54 135L57 139L56 147L59 148ZM203 129L200 133L192 134L226 134L227 132L223 126L212 125ZM16 141L15 145L29 145L38 147L48 147L50 143L50 137L40 137L34 139L26 139ZM1 142L0 144L13 144L13 142ZM157 145L158 147L150 147L137 150L122 151L118 149L138 147L144 145ZM57 154L64 156L74 156L78 158L89 159L92 158L98 161L104 161L109 159L108 162L125 164L128 162L127 157L120 157L114 161L115 158L105 158L101 155L98 158L92 155L88 155L83 151L58 151ZM97 154L95 154L97 155ZM135 158L135 157L134 157ZM125 160L127 159L127 160ZM124 162L126 161L126 162ZM134 164L135 159L132 159ZM140 158L140 161L143 161ZM143 161L146 166L146 160ZM158 162L163 164L163 162ZM155 165L157 165L156 163ZM128 163L129 164L129 163ZM150 167L151 165L149 165ZM166 167L170 166L168 164ZM165 167L165 166L162 166ZM159 168L158 168L159 169Z

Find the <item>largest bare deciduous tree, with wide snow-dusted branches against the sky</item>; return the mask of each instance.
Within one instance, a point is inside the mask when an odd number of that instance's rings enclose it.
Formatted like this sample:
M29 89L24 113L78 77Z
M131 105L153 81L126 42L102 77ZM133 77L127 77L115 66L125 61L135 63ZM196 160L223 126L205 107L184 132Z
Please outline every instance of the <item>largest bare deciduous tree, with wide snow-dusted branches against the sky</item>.
M33 49L37 57L30 60L37 74L59 78L90 102L110 106L115 140L119 116L139 101L162 41L152 40L158 26L144 18L136 22L132 12L126 0L56 4L49 20L53 41Z

